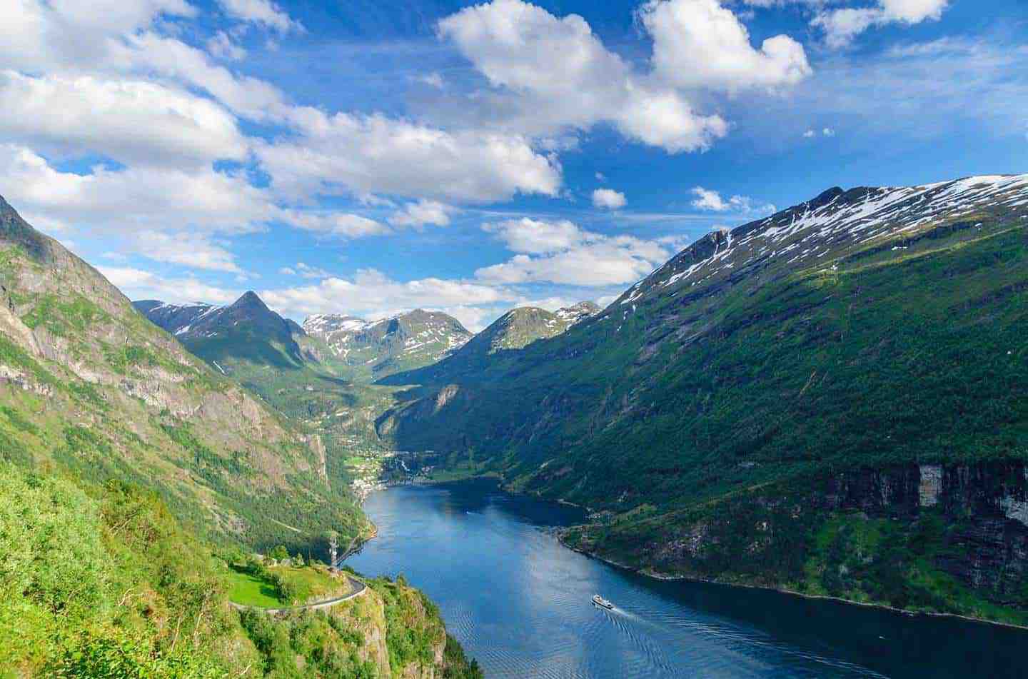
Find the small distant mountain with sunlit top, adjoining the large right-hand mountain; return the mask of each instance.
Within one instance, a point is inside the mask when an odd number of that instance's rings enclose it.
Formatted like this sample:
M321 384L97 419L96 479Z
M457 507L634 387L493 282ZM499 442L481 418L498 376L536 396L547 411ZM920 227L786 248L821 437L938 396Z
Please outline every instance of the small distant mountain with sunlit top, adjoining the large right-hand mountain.
M512 309L443 360L420 369L388 376L381 383L445 384L458 374L478 371L502 361L509 352L522 349L537 340L565 332L567 328L595 316L599 311L599 307L591 301L580 301L555 312L538 307Z

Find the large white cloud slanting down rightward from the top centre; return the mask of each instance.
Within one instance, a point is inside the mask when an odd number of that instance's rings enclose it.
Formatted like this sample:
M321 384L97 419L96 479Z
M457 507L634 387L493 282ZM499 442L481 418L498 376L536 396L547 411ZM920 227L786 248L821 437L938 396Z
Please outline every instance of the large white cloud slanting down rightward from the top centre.
M631 139L681 152L705 149L728 132L720 116L698 114L674 90L632 73L578 14L558 19L521 0L493 0L447 16L439 32L529 134L608 121Z

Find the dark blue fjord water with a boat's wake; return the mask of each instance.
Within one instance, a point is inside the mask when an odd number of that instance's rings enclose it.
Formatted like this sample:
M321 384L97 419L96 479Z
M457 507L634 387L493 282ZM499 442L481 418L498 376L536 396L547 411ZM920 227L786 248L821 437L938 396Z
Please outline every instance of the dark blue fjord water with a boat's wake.
M379 536L346 564L423 588L486 677L1028 677L1028 632L642 577L561 546L574 508L490 483L392 488L365 510Z

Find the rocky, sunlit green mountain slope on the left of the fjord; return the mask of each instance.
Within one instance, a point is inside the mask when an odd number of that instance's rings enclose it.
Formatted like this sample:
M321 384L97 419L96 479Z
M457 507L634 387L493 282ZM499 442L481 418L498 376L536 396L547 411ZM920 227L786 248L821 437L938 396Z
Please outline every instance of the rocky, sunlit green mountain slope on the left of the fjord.
M149 323L0 199L0 455L131 480L218 541L367 528L324 448Z

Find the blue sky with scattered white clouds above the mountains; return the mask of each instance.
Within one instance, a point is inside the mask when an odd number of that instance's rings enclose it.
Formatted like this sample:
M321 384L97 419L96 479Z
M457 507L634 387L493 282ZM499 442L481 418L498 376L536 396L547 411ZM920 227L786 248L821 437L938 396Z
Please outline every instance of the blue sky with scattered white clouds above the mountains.
M478 330L832 186L1026 165L1023 0L0 6L0 195L133 299Z

